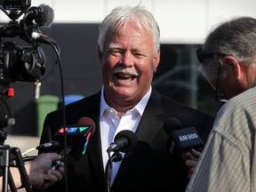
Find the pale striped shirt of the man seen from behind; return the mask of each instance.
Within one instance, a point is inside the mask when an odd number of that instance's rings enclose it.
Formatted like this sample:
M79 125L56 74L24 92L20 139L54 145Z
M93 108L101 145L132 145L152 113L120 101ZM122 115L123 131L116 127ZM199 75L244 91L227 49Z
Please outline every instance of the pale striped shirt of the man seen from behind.
M256 87L220 108L186 192L256 191Z

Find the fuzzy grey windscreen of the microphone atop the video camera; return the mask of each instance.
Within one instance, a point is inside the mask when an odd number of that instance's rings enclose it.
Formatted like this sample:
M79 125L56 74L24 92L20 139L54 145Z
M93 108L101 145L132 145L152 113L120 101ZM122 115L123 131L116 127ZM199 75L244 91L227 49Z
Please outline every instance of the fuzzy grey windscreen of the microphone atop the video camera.
M52 7L46 4L40 4L38 9L41 16L36 18L36 23L39 27L50 27L54 18Z

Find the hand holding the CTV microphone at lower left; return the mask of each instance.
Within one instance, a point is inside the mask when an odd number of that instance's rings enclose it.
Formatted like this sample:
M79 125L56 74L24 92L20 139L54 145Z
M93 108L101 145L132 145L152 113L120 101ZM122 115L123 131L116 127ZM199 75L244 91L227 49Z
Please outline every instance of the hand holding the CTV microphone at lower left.
M52 162L59 160L60 155L56 153L43 153L36 156L36 159L30 162L28 165L25 164L29 175L29 182L34 188L48 188L55 182L62 180L64 176L64 164L60 164L58 170L51 170Z

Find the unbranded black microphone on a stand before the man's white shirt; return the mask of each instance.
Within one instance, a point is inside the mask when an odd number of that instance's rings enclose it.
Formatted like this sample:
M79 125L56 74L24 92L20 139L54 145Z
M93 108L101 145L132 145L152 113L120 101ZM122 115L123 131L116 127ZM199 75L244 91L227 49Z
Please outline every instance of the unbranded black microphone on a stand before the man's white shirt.
M137 142L137 136L134 132L130 130L123 130L116 134L114 142L110 144L107 152L110 153L111 151L121 151L125 153L135 148Z

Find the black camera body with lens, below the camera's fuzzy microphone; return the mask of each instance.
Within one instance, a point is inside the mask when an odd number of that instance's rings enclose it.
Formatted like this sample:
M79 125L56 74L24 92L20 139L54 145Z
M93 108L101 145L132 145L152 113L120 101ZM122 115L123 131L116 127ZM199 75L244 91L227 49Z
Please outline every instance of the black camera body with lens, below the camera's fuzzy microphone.
M4 42L0 47L0 84L35 82L44 74L44 50Z

